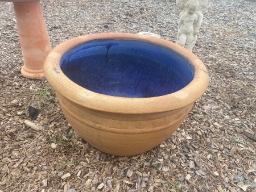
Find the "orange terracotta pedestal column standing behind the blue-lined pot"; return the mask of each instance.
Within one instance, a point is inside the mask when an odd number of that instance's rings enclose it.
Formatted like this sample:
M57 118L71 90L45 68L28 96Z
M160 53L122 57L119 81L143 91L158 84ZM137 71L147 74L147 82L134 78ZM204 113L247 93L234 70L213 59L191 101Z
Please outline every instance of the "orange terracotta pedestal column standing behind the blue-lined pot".
M21 73L27 78L44 78L43 64L51 51L46 23L39 0L11 1L14 5L24 65Z

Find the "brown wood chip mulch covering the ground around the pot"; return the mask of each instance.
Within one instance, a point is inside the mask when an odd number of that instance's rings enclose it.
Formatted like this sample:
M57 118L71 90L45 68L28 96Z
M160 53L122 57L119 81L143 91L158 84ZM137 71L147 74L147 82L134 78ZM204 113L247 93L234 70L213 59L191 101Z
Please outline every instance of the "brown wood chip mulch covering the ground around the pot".
M176 41L175 1L41 3L52 47L99 32ZM46 80L20 74L13 4L0 2L0 192L256 191L256 1L210 0L193 52L210 84L180 128L141 155L106 155L73 131Z

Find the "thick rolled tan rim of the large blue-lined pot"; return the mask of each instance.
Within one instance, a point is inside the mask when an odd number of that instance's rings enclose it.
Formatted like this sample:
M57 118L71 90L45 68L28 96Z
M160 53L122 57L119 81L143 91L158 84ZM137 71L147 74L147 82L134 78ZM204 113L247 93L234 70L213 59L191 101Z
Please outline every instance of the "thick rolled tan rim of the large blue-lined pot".
M135 40L159 45L170 49L191 64L195 69L195 77L183 89L171 94L148 98L115 97L90 91L71 81L60 68L61 57L74 47L86 41L96 39ZM98 111L120 114L152 114L177 110L195 102L208 87L209 76L203 62L192 52L167 40L157 37L127 33L103 33L75 37L60 43L44 61L44 74L49 84L65 98L77 105Z

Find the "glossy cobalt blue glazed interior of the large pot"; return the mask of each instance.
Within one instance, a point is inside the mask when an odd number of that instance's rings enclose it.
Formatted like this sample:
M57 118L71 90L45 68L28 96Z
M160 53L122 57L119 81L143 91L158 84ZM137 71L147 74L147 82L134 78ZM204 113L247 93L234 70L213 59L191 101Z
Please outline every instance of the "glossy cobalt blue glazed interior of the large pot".
M63 73L96 93L147 98L187 86L195 70L170 49L135 40L93 40L69 50L60 61Z

